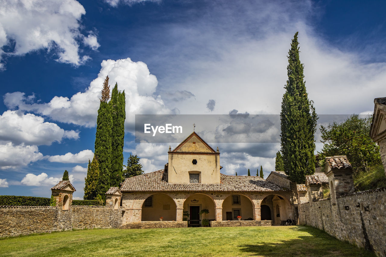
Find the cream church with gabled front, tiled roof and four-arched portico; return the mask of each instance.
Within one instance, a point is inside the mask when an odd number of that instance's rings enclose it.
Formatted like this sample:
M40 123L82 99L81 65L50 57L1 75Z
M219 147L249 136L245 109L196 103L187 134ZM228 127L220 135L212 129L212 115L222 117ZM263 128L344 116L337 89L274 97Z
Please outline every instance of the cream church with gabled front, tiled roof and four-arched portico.
M122 225L161 219L188 221L188 226L200 226L203 219L272 220L283 225L296 218L289 185L257 176L229 176L221 169L218 147L214 150L193 132L173 150L169 147L164 169L121 184Z

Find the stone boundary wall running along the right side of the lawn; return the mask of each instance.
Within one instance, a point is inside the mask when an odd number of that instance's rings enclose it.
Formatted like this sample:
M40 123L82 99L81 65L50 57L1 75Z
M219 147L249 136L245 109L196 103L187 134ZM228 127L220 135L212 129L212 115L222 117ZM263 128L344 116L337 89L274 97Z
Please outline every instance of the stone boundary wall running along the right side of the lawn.
M386 188L303 203L300 224L324 230L333 237L386 256Z

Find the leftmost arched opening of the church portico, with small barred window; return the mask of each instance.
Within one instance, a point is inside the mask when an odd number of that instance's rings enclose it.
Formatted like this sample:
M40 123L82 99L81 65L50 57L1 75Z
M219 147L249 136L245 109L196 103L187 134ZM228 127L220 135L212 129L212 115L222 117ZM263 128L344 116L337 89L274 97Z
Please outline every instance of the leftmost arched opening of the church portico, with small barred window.
M147 200L150 197L151 199ZM177 205L169 194L159 192L147 194L141 202L141 221L159 221L161 217L165 221L176 220Z

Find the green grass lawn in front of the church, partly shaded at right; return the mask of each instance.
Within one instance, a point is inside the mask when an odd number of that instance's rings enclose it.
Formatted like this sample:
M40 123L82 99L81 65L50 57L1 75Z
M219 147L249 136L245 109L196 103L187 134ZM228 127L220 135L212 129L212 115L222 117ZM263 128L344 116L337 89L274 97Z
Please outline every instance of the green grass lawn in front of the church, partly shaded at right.
M0 256L375 256L312 227L93 229L0 240Z

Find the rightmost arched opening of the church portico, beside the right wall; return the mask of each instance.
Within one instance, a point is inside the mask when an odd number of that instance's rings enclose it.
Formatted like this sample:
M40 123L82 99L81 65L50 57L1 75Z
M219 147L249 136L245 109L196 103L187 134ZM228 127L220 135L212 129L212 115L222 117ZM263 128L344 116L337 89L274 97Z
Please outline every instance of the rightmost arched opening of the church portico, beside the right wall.
M293 219L291 204L286 198L284 198L284 196L278 194L270 194L264 197L260 206L261 220L268 220L268 218L270 218L274 225L283 225L286 220Z

